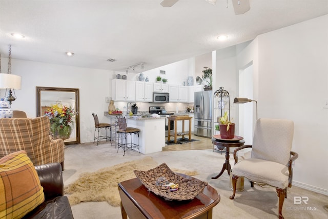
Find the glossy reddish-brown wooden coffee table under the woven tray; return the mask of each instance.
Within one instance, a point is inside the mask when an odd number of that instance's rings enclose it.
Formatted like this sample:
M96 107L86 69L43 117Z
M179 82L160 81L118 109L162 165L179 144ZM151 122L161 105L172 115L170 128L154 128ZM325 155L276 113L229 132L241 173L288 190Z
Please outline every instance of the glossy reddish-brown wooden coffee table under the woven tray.
M184 174L183 177L193 178ZM118 184L123 219L135 218L212 218L212 209L220 202L217 191L207 185L193 200L166 201L149 192L138 178Z

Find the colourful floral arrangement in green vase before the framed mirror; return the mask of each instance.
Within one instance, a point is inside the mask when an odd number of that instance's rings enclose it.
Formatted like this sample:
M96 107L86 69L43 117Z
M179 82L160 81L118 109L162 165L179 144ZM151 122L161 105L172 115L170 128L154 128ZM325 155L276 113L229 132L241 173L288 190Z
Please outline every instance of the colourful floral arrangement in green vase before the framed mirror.
M56 136L63 138L63 140L69 138L74 114L75 112L71 107L61 104L54 104L45 111L45 115L50 118L50 131L54 138L57 138Z

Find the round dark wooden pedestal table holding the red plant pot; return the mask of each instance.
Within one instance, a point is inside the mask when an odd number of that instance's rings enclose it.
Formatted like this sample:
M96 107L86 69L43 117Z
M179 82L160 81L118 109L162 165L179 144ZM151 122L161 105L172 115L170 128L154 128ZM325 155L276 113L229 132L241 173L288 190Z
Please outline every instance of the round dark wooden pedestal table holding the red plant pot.
M218 177L220 177L222 175L222 173L224 172L224 170L228 171L228 174L230 175L230 170L231 170L231 165L229 162L229 158L230 158L230 154L229 154L229 148L238 148L240 146L243 146L245 141L243 140L243 137L241 136L237 136L235 135L234 138L232 139L224 139L221 138L221 136L218 135L214 135L212 137L212 143L216 146L219 147L226 147L226 162L223 164L223 167L221 169L221 171L219 172L219 174L217 174L216 176L213 176L213 179L216 179ZM238 162L238 157L234 156L235 159L235 164Z

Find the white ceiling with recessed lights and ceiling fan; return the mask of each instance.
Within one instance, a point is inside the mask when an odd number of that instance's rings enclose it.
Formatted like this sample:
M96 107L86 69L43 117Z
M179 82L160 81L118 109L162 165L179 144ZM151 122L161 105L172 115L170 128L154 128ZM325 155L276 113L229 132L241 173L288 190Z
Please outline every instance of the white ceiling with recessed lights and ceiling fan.
M242 15L231 0L228 8L226 0L160 2L0 0L0 53L8 57L12 45L17 59L114 71L144 62L149 70L328 14L328 0L250 0ZM17 32L25 38L11 36ZM219 42L220 34L228 40Z

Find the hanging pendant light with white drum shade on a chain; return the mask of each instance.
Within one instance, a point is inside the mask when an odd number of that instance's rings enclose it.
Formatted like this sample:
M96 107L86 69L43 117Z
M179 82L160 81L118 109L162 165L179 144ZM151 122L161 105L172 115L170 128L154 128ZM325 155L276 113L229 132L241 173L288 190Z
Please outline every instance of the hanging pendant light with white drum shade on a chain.
M15 101L15 89L20 90L21 77L15 74L11 74L11 45L9 46L9 59L8 59L8 74L1 73L0 71L0 89L6 89L4 96L5 101L11 102ZM9 90L8 90L9 89ZM12 90L11 90L12 89ZM8 94L7 94L8 90Z

